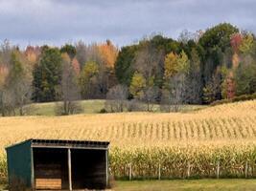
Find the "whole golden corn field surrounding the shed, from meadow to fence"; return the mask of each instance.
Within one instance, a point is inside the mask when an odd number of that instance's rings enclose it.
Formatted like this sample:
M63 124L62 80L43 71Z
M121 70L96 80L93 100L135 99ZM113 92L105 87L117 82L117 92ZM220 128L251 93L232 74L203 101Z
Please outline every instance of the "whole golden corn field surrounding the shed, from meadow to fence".
M0 179L4 148L28 138L108 140L117 178L255 177L256 100L189 113L0 117Z

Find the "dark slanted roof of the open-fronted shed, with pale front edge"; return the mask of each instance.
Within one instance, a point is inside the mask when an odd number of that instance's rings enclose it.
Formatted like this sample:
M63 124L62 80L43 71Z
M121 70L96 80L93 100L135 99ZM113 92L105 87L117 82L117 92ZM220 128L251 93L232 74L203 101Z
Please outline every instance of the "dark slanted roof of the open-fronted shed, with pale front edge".
M6 149L15 147L25 142L31 142L34 148L77 148L77 149L108 149L108 141L94 140L70 140L70 139L27 139L25 141L13 144Z

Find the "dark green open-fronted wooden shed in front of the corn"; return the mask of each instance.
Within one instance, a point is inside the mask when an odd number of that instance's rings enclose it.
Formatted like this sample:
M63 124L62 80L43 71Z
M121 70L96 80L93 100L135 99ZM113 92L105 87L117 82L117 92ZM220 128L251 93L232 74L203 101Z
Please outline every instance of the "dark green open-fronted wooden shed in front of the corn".
M33 190L105 189L106 141L28 139L6 148L9 182ZM18 180L18 181L17 181Z

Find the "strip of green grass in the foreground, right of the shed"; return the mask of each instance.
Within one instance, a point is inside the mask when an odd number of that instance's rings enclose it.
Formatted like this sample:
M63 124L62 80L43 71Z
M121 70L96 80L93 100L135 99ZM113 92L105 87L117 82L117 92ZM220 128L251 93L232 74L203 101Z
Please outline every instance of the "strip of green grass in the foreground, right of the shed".
M249 191L256 180L132 180L116 181L115 191Z

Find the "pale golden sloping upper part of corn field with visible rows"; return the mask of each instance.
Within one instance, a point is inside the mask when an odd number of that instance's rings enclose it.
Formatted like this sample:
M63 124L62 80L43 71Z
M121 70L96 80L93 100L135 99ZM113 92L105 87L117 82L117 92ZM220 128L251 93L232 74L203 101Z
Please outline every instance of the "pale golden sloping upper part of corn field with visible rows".
M177 114L1 117L0 136L2 149L26 138L105 139L115 146L155 146L191 141L250 141L256 137L256 101Z

